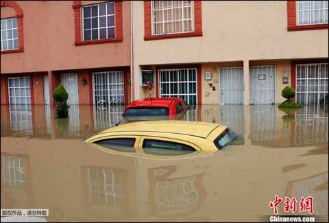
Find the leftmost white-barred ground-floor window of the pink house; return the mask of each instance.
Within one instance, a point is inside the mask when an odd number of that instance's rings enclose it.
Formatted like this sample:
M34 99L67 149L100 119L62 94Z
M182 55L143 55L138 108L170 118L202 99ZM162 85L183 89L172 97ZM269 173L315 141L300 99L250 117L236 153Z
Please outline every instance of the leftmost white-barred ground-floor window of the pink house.
M31 104L29 77L8 78L10 104Z

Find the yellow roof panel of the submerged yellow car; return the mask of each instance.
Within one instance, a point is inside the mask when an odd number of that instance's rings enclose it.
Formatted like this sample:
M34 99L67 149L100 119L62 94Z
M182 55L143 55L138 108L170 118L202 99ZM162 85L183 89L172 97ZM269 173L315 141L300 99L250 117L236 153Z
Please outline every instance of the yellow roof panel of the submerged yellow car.
M109 128L99 134L110 132L170 132L206 138L218 126L220 125L200 121L137 121Z

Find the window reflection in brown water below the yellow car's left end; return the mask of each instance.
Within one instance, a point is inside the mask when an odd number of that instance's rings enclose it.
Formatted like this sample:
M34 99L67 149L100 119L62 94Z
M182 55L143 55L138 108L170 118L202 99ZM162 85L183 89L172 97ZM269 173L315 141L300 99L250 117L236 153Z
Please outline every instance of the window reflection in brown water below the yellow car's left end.
M119 205L122 202L121 173L112 169L88 167L88 202Z

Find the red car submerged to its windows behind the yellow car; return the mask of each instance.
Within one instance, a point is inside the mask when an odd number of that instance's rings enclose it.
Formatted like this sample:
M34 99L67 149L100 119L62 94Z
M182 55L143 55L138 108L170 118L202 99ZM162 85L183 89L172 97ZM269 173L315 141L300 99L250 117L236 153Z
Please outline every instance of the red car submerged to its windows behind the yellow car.
M125 107L123 117L177 115L190 109L182 98L148 97L132 102Z

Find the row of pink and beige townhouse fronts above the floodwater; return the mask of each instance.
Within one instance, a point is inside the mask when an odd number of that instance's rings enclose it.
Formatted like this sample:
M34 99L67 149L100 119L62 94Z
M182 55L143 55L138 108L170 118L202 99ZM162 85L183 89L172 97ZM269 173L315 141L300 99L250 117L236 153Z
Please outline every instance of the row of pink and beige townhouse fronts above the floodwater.
M328 104L328 76L328 1L1 1L1 104Z

